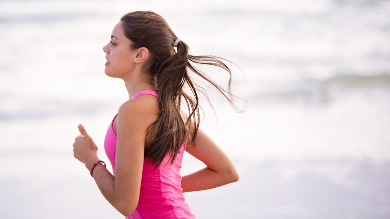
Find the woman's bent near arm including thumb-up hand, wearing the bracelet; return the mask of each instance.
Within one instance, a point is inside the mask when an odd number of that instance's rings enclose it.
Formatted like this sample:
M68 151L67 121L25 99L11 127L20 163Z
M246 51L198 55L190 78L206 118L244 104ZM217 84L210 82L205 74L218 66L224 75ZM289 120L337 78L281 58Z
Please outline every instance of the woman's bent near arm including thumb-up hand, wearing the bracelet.
M151 124L145 101L133 99L121 105L117 116L115 177L102 163L96 164L92 176L110 204L122 215L130 215L138 205L147 127ZM74 157L86 168L98 160L97 147L85 129L73 144ZM85 139L84 139L85 137Z

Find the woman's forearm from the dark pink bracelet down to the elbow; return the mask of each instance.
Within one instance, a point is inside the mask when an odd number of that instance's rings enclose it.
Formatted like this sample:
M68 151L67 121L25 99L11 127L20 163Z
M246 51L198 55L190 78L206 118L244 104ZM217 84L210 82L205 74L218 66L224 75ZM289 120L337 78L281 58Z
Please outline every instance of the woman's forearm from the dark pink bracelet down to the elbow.
M85 164L85 167L89 170L92 164L97 161L91 160ZM92 171L92 177L94 178L97 187L99 188L101 194L106 198L110 204L121 212L121 205L119 200L117 200L114 190L114 180L115 177L107 170L103 163L99 162L96 164Z

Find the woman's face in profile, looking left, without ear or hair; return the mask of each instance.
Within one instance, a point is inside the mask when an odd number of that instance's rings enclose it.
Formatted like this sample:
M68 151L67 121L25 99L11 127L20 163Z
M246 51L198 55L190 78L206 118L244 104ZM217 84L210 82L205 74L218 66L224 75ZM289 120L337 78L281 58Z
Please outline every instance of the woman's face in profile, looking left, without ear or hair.
M135 53L130 51L130 40L123 34L122 24L119 21L114 26L111 41L103 47L106 53L104 72L113 78L125 78L134 68Z

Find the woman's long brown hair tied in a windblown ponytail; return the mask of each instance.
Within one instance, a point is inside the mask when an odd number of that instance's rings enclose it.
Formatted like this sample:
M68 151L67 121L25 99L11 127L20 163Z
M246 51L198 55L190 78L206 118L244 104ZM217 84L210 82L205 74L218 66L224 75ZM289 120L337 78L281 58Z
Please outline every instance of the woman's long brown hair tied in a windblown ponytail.
M149 50L149 61L144 65L144 69L142 70L152 78L153 81L149 83L157 85L158 89L160 115L158 120L152 124L154 125L152 139L148 145L145 145L145 157L151 158L153 164L158 162L158 166L160 166L164 157L170 154L171 163L173 163L184 141L195 140L196 138L200 122L200 105L197 91L204 94L209 101L206 90L199 87L191 79L187 67L211 83L232 106L236 106L225 94L234 96L230 93L232 76L230 69L217 59L220 57L211 55L194 56L188 54L189 47L183 41L179 41L177 44L176 52L173 44L177 36L167 21L159 14L151 11L134 11L122 16L120 21L124 35L131 41L130 49L135 50L140 47L145 47ZM226 60L224 58L221 59ZM229 72L229 92L191 65L189 60L199 64L215 65ZM183 87L185 84L189 86L194 97L184 92ZM199 90L199 88L204 92ZM182 98L187 104L189 113L189 117L185 123L180 113ZM193 125L195 126L192 136L190 136L190 131L187 126L191 122L191 118L193 118Z

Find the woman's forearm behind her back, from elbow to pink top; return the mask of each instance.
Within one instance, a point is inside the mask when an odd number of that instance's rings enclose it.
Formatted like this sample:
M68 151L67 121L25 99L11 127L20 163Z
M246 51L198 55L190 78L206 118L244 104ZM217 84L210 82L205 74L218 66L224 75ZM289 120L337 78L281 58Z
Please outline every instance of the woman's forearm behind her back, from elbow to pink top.
M238 180L238 179L237 179ZM237 181L229 172L218 173L206 167L181 178L183 193L212 189Z

